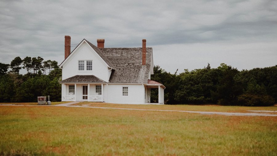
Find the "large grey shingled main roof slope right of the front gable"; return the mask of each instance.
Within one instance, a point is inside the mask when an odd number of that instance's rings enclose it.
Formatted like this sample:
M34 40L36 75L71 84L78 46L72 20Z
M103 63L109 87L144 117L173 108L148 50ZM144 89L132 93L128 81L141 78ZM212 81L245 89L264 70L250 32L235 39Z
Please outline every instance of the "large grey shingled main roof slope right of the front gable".
M109 83L147 84L152 59L152 48L146 48L146 65L142 65L142 48L100 48L114 65Z

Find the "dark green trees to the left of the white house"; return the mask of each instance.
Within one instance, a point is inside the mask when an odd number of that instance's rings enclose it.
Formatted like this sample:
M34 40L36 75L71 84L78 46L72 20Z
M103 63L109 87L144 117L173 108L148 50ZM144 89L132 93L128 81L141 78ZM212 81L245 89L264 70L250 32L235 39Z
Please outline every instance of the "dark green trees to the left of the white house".
M37 96L50 95L61 101L62 70L58 62L42 57L15 57L10 64L0 63L0 102L36 102ZM21 69L26 74L19 73Z

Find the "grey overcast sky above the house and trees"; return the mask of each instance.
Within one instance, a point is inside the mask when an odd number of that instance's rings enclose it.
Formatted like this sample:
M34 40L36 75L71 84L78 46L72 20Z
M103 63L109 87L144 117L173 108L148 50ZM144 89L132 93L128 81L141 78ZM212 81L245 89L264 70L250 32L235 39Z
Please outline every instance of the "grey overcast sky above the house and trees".
M105 47L141 47L146 39L154 64L171 73L208 63L239 70L277 64L276 0L0 3L1 63L16 56L61 63L69 35L71 44L103 38Z

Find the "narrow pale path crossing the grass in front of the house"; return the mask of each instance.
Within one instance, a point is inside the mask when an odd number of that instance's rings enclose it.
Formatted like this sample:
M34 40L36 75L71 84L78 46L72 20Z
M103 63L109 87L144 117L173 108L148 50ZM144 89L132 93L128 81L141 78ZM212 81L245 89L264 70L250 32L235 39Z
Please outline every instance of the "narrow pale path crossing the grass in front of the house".
M69 102L69 103L64 103L64 104L48 105L48 106L84 107L84 108L97 108L97 109L122 109L122 110L159 111L159 112L185 112L185 113L200 113L200 114L230 115L230 116L277 117L277 114L263 114L263 113L199 112L199 111L185 111L185 110L160 110L160 109L132 109L132 108L93 107L93 106L71 106L72 104L76 104L76 103L79 103L79 102L82 102L82 101L76 101L76 102L74 101L74 102ZM12 106L24 106L24 105L12 105ZM26 106L47 106L47 105L26 105Z

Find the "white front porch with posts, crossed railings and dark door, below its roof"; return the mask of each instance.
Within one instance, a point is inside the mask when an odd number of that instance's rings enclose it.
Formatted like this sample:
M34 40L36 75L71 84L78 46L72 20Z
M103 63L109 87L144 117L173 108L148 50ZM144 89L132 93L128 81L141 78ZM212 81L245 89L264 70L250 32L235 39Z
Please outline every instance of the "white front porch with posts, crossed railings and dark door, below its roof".
M105 84L62 84L62 101L104 101Z

